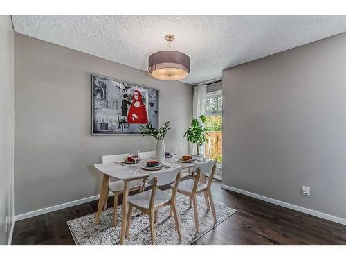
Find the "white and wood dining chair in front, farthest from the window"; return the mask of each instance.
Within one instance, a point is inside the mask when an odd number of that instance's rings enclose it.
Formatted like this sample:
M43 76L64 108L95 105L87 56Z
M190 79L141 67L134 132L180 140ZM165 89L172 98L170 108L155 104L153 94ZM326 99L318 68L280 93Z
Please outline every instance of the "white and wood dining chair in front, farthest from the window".
M176 211L176 189L179 187L179 180L181 177L181 168L174 168L170 171L164 171L161 173L151 173L149 175L148 184L152 185L152 189L144 191L142 193L129 196L129 211L127 214L127 227L126 237L129 237L129 230L131 227L132 209L136 207L142 211L142 213L149 215L150 233L152 236L152 245L155 245L155 229L154 218L157 218L158 209L170 205L172 213L174 215L174 221L176 224L176 232L178 233L178 239L181 241L181 227L178 213ZM158 189L161 185L167 185L174 182L174 189L172 189L172 195L165 193ZM155 216L154 216L155 215Z

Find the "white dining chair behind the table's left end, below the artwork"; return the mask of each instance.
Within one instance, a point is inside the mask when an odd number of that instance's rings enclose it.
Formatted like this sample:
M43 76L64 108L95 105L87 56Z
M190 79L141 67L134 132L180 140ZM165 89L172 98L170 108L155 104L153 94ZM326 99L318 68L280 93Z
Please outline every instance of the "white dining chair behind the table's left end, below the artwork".
M126 157L129 157L129 153L124 153L122 155L104 155L102 156L102 163L109 162L121 162ZM133 180L129 182L129 191L143 191L145 186L145 179L143 180ZM116 225L117 218L116 214L118 211L118 196L124 193L124 182L122 180L116 180L114 182L109 182L107 188L107 194L111 190L114 194L114 209L113 209L113 225ZM104 200L103 210L107 208L108 195L106 200Z

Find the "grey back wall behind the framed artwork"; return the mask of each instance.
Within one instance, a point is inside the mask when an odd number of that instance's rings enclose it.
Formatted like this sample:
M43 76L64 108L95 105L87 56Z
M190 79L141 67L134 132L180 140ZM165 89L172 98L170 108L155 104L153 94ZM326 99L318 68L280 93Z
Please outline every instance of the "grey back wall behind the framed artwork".
M166 148L187 152L190 85L16 33L15 214L98 194L102 155L154 150L152 137L91 136L91 73L159 89Z

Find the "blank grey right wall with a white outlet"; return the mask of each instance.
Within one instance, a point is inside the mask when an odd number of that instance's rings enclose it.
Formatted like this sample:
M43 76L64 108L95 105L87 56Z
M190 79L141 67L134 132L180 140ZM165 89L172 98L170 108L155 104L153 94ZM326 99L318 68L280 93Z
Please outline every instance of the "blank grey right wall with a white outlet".
M346 33L226 69L223 94L223 184L346 218Z

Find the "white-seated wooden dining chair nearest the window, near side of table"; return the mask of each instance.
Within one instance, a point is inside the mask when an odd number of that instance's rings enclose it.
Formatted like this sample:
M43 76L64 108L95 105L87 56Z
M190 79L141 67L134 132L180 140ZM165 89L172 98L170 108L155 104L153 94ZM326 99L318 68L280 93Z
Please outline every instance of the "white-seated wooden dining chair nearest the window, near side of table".
M210 187L212 185L212 178L215 174L217 160L207 161L207 162L199 162L194 165L193 173L196 173L196 177L194 179L184 180L180 182L178 189L176 190L179 193L182 193L189 198L192 198L193 208L194 208L194 221L196 223L196 231L199 232L199 220L198 220L198 210L197 210L197 194L204 194L204 199L206 200L207 209L212 210L212 217L214 221L217 220L214 201L212 200L212 193L210 191ZM210 174L208 184L206 184L206 174ZM174 189L174 184L171 184L171 187ZM175 188L176 189L176 188ZM172 210L170 211L172 214Z

